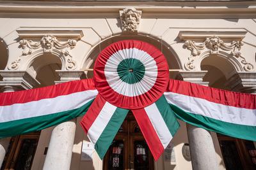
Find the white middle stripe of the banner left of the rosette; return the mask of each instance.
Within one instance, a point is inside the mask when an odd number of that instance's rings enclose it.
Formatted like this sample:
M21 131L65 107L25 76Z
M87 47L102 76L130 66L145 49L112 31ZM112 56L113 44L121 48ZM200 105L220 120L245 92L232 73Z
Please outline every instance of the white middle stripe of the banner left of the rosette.
M0 106L0 123L74 110L91 101L97 94L97 90L86 90L40 101Z

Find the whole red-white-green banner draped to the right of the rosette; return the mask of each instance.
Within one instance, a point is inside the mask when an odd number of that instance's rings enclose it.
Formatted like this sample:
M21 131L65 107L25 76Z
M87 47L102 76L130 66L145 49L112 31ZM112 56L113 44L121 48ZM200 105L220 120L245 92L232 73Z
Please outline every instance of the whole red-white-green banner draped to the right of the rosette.
M170 80L164 92L180 120L235 138L256 141L256 96Z

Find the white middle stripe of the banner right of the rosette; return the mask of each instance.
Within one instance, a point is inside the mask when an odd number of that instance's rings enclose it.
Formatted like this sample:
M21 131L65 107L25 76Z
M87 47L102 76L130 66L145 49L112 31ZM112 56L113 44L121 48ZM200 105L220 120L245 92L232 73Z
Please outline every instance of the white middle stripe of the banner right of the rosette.
M256 125L256 110L213 103L205 99L173 92L164 92L164 96L168 103L174 104L189 113L233 124Z

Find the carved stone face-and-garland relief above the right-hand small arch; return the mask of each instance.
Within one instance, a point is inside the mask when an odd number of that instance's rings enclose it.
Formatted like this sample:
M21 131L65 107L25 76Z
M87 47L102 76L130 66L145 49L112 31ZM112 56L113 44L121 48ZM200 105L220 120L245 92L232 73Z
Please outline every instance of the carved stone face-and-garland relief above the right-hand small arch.
M230 52L231 57L239 59L241 64L243 64L244 71L252 71L253 65L246 61L246 59L241 55L241 46L243 42L241 41L232 41L229 45L224 43L218 36L211 36L206 38L204 43L196 44L195 41L187 40L184 43L184 46L191 51L191 55L188 58L188 62L185 64L186 70L195 69L195 59L196 56L200 55L206 50L210 50L211 53L219 53L220 50L225 52Z

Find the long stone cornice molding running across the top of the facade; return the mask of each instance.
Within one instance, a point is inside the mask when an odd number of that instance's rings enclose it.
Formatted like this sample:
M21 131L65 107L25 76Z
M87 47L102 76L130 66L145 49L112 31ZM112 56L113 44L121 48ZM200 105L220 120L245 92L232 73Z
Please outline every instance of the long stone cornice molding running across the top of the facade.
M17 18L118 18L132 6L143 11L141 18L254 18L256 2L198 1L0 1L0 17Z

